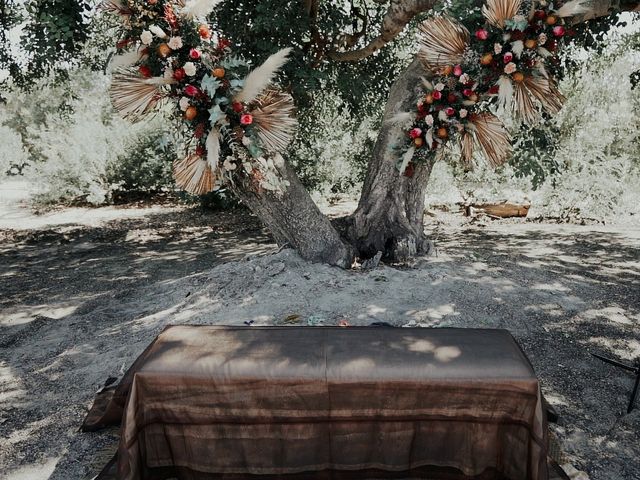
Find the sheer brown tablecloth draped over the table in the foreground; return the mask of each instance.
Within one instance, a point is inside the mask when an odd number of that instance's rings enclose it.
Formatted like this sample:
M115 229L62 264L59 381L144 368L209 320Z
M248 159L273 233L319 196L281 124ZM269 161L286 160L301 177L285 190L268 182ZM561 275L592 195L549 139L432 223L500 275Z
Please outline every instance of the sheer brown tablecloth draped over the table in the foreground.
M98 407L85 429L124 407L123 479L547 479L538 381L505 330L169 327Z

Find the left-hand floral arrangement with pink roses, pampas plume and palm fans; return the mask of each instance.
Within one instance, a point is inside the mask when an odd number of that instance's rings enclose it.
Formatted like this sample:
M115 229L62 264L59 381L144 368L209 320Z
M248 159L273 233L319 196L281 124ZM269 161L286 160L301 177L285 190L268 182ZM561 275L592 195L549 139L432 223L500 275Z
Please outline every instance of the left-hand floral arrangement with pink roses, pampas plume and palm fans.
M220 0L107 0L122 19L111 100L131 121L167 106L187 153L174 162L181 188L204 194L227 182L282 192L280 152L296 127L293 100L272 86L290 49L261 66L233 55L206 21Z

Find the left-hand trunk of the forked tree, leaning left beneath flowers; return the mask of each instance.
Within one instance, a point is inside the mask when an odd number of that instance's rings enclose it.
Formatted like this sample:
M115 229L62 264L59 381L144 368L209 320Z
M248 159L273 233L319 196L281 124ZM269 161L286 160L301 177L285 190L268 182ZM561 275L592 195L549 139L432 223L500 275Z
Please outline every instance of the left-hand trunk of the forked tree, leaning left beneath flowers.
M283 194L242 185L233 186L233 192L260 218L279 245L290 245L312 262L351 267L354 249L320 212L291 166L283 161L276 167L290 182Z

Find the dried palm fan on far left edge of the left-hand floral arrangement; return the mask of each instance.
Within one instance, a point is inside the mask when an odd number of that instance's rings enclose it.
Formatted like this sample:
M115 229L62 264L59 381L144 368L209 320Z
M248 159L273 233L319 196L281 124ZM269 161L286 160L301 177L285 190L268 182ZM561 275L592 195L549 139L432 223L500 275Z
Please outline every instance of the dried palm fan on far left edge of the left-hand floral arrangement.
M172 82L163 77L141 78L137 73L120 71L111 81L111 102L123 118L137 122L164 98L162 85Z

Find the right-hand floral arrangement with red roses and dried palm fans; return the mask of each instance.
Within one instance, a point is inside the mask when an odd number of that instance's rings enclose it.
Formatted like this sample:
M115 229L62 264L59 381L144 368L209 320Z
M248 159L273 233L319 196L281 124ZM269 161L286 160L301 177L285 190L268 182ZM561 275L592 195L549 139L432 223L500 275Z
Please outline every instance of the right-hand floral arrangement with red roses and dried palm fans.
M423 79L417 111L394 118L412 122L400 171L411 175L414 161L433 158L447 144L458 145L467 165L478 147L492 166L504 163L511 141L492 110L529 125L541 110L560 110L564 97L553 71L558 50L572 34L565 19L588 12L585 3L556 8L544 1L487 0L485 25L473 35L445 16L424 21L418 56L430 79Z

